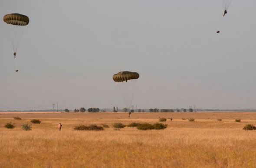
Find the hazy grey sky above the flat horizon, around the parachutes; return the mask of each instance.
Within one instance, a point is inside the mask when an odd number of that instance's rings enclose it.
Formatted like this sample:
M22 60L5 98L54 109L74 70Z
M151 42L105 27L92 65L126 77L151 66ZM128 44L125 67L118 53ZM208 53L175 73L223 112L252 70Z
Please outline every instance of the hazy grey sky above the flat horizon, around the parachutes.
M123 70L140 74L137 108L256 108L254 6L233 0L223 19L222 0L1 0L30 23L16 73L0 22L0 110L123 108Z

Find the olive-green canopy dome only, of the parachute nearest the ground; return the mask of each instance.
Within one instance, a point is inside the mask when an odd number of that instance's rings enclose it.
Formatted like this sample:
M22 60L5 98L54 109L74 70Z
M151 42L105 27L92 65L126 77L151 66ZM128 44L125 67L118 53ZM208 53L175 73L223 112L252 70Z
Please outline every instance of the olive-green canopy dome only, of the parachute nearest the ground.
M128 80L131 80L131 79L138 79L139 76L140 75L136 72L121 71L113 75L113 80L115 82L124 82L124 81L127 82Z

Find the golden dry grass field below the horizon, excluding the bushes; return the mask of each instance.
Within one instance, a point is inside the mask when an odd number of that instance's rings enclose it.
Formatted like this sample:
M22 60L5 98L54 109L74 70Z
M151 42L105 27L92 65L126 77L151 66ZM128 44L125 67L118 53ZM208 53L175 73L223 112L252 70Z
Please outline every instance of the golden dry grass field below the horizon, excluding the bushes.
M173 118L164 122L167 129L112 127L116 122L153 124L159 117ZM182 120L190 117L195 121ZM31 119L42 123L22 130ZM14 129L4 127L10 121ZM73 130L79 124L110 127ZM256 131L243 130L246 124L256 125L256 113L133 113L131 118L127 113L0 113L0 167L255 168Z

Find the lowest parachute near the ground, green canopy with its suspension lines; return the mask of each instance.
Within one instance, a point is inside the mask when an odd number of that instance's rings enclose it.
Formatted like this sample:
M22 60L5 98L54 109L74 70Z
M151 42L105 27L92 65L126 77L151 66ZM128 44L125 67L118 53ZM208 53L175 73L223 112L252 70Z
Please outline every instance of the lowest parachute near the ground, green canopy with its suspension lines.
M132 99L139 74L137 72L121 71L113 75L121 95L125 101L126 108L131 109Z

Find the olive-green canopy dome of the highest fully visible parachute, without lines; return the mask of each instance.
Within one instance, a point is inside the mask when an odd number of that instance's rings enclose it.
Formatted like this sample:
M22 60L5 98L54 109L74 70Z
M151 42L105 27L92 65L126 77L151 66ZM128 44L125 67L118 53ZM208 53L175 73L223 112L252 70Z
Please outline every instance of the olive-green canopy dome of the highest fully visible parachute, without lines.
M3 21L11 25L28 25L30 19L28 16L19 13L11 13L3 16Z

